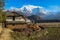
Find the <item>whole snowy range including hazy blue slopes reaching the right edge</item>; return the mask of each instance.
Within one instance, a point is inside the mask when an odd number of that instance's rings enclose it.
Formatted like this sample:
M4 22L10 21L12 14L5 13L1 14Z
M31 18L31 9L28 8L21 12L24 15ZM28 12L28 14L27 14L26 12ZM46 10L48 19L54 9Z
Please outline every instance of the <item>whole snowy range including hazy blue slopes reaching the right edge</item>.
M33 5L24 5L21 8L11 7L9 11L16 11L17 13L21 13L25 16L38 15L42 19L60 19L60 13L58 12L49 12L49 10L45 9L41 6L33 6ZM59 18L58 18L59 16Z

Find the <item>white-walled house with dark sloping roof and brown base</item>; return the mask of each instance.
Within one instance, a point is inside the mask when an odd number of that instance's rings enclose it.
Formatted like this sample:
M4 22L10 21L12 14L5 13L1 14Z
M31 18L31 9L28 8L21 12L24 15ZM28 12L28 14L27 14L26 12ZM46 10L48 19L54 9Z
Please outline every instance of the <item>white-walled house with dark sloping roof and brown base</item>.
M16 12L11 12L8 14L6 21L5 21L5 27L8 28L19 28L19 27L25 27L27 23L30 23L31 21L24 17L23 15L20 15Z

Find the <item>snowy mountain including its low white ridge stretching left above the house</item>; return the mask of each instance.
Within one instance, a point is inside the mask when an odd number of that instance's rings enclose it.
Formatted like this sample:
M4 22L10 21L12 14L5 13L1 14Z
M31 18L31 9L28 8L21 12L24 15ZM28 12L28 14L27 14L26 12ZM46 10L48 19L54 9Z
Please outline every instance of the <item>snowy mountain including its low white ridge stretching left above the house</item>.
M33 5L24 5L21 8L14 8L11 7L9 11L16 11L18 13L23 12L24 15L30 16L30 15L45 15L47 11L40 6L33 6Z

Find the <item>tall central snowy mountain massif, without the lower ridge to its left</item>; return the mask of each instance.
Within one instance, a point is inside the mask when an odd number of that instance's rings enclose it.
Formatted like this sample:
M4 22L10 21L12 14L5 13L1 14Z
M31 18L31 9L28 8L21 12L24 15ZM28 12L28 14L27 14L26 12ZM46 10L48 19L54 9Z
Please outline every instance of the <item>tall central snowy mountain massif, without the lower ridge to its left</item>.
M47 11L43 8L43 7L40 7L40 6L33 6L33 5L25 5L23 7L20 8L22 12L24 13L28 13L28 14L46 14Z

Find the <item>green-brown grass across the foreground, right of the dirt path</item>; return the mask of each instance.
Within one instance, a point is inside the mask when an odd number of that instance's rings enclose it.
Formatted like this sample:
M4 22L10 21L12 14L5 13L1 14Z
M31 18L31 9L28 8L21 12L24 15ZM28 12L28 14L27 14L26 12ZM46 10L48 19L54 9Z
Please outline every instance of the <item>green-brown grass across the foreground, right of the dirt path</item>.
M29 37L25 32L13 32L11 35L15 40L60 40L60 28L50 27L44 31L35 31Z

